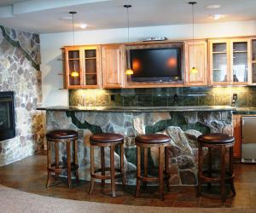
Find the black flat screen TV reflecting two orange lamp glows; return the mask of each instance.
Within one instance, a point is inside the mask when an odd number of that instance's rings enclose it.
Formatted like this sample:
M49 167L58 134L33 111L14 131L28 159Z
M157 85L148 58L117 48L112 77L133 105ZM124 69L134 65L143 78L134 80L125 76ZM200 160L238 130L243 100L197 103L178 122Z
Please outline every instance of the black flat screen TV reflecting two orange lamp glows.
M172 82L182 79L181 48L131 49L131 82Z

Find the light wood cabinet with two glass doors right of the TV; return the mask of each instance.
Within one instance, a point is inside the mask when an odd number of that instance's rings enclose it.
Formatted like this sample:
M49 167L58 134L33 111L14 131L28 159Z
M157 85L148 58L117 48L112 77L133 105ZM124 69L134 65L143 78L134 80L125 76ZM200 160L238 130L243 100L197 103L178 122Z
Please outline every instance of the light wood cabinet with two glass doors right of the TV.
M211 85L247 85L250 69L249 39L209 40Z

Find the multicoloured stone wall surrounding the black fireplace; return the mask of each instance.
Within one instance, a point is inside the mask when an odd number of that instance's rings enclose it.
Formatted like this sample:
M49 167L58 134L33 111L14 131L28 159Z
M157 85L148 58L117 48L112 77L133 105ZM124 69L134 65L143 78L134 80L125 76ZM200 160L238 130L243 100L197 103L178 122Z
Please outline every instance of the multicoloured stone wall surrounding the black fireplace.
M0 92L15 91L15 138L0 141L0 165L37 152L44 140L39 35L0 26Z

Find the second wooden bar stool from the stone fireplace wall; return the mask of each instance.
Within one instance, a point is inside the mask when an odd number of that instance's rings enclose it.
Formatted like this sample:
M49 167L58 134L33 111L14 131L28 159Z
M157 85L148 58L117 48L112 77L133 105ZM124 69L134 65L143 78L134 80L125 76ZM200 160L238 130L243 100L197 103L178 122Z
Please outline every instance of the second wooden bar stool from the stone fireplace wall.
M115 178L121 177L123 186L125 187L125 170L124 170L124 136L114 133L99 133L90 136L90 192L91 195L94 187L94 180L101 179L102 187L105 184L106 179L111 180L112 197L116 197L115 194ZM114 150L115 147L120 147L120 168L114 167ZM94 164L94 147L101 147L101 168L95 170ZM105 153L104 147L110 148L110 168L105 168ZM106 174L106 171L110 171L110 174ZM102 173L99 175L97 173ZM118 172L118 173L116 173Z

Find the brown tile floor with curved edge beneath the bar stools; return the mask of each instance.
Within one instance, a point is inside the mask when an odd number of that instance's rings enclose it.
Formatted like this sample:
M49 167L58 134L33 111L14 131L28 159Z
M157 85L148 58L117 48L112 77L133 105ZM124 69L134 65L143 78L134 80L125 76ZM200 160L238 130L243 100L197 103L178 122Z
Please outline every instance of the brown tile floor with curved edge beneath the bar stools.
M67 187L67 180L57 180L55 186L45 188L46 156L36 155L0 168L0 184L18 190L62 199L87 200L108 204L131 204L172 207L255 207L256 208L256 164L235 164L236 197L227 199L196 198L195 187L171 187L165 193L165 200L158 199L158 188L141 189L139 198L133 197L135 187L117 186L117 198L111 198L110 186L104 188L96 183L94 193L88 195L90 182L73 181L73 188Z

